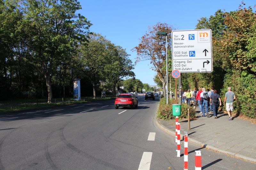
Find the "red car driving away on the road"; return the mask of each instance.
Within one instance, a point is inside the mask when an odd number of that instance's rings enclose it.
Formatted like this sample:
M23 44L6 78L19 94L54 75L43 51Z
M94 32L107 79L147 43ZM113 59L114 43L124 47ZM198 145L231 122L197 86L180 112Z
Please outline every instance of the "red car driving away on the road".
M118 109L119 106L131 107L132 109L138 107L138 97L134 94L123 93L116 97L115 107Z

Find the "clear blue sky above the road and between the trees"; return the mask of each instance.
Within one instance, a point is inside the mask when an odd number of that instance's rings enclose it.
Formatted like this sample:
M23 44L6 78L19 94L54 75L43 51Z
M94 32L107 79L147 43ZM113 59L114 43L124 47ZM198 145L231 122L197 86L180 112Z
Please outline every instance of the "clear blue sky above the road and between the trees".
M253 6L255 0L244 0L244 7ZM157 22L172 25L175 30L195 29L198 19L209 18L217 10L236 11L241 0L80 0L82 10L78 11L93 24L91 32L100 33L117 46L122 46L135 62L140 38L148 26ZM253 11L256 11L253 8ZM150 69L149 61L136 64L133 72L136 79L155 85L156 72Z

